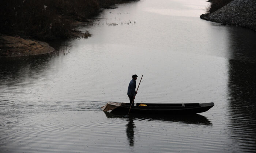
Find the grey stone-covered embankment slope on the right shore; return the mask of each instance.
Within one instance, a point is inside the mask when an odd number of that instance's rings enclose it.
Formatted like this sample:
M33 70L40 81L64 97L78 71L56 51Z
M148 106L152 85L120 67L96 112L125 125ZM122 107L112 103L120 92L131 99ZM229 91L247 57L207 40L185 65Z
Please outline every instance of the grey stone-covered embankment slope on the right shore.
M200 18L256 31L256 0L233 0L213 13L202 14Z

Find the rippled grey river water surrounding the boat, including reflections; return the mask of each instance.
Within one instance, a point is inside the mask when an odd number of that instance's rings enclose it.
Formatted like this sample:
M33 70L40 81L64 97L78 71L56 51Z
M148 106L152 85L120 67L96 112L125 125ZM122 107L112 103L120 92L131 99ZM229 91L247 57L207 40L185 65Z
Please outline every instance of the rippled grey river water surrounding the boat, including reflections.
M0 59L0 152L255 152L256 32L201 20L204 0L105 9L89 39ZM214 102L190 116L117 116L128 102Z

